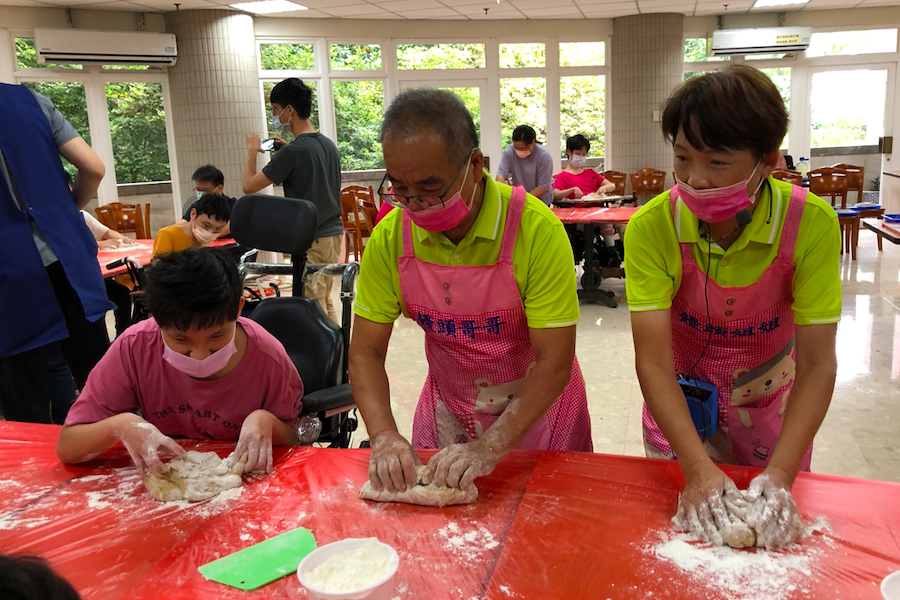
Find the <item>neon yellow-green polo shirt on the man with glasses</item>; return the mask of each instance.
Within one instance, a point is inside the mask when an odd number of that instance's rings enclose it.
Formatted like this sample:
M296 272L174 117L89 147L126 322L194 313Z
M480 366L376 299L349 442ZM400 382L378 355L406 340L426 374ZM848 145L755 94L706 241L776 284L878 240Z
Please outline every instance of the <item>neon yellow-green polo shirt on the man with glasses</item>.
M443 233L412 225L416 257L438 265L497 262L511 188L493 181L487 172L485 182L481 211L459 244L454 245ZM401 312L406 314L398 272L403 254L402 212L392 210L384 217L363 253L353 312L376 323L393 323ZM543 202L528 195L513 247L513 274L529 327L568 327L578 322L573 261L562 223Z

